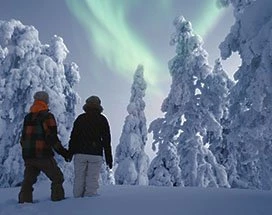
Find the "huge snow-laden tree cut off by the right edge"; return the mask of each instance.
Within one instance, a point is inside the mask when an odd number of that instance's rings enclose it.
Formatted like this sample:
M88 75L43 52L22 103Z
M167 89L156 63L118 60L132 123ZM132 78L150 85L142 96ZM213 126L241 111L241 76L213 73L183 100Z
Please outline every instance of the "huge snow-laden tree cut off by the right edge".
M223 59L238 52L241 66L230 91L229 157L232 187L272 188L272 4L270 0L222 1L236 19L221 43Z

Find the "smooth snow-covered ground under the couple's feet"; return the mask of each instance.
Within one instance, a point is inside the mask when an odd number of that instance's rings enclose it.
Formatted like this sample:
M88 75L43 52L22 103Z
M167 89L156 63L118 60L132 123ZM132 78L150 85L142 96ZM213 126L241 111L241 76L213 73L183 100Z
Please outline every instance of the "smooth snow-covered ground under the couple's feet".
M17 204L19 188L0 189L0 215L271 215L272 192L216 188L103 186L96 197L50 201L50 184L35 186L34 204Z

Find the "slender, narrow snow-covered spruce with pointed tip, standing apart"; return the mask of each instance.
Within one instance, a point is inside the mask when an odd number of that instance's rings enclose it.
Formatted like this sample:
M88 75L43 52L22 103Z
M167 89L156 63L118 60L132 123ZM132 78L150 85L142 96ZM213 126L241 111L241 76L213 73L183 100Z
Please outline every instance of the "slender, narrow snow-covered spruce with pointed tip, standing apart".
M130 103L127 106L129 115L125 119L120 143L116 147L117 168L114 174L116 184L148 185L149 157L145 153L147 128L143 100L146 82L143 71L141 65L135 71Z

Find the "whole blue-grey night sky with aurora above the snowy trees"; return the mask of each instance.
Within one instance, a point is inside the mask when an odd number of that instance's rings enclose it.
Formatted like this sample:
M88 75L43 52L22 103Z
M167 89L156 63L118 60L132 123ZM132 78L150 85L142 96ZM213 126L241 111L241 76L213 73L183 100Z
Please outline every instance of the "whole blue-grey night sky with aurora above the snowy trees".
M0 0L0 20L17 19L33 25L45 44L61 36L70 53L67 62L79 65L76 90L85 99L98 95L118 144L127 115L133 74L143 64L147 81L146 117L162 116L160 106L168 95L171 77L168 61L175 56L169 45L173 20L182 15L204 41L211 66L219 57L218 45L234 22L232 8L218 9L215 0ZM233 74L239 65L234 56L223 62ZM150 152L149 136L147 151Z

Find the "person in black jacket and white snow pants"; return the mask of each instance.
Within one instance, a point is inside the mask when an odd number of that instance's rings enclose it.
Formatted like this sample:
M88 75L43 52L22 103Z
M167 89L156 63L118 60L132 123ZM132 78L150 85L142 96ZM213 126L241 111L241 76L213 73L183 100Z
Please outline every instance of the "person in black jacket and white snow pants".
M112 168L111 134L103 107L97 96L91 96L83 106L85 113L74 122L69 141L69 153L74 156L74 197L97 195L99 174L105 154Z

